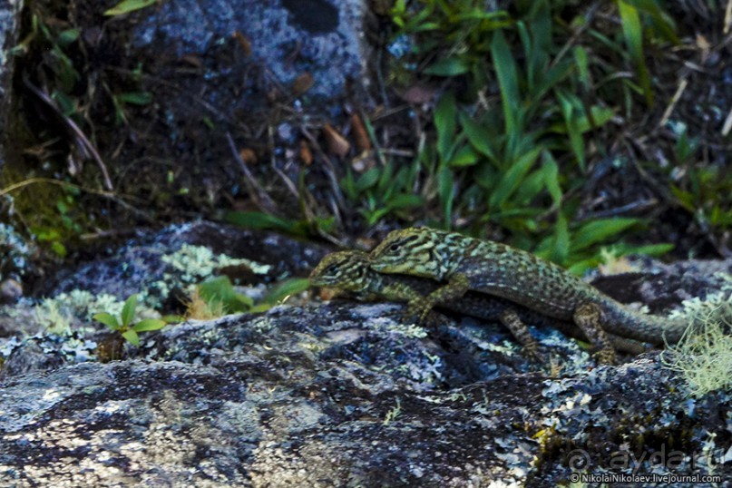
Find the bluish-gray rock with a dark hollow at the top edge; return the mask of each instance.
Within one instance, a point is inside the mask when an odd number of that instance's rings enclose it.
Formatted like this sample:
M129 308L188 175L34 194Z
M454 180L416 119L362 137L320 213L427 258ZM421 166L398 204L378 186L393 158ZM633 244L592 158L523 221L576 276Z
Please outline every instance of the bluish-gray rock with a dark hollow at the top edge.
M149 15L134 28L132 45L143 51L163 46L178 58L194 53L205 57L219 46L236 44L232 34L239 32L248 39L251 56L211 71L211 78L233 81L238 73L264 68L288 86L307 72L314 81L308 95L328 101L345 93L348 79L360 82L365 73L363 9L361 0L165 2L146 11ZM206 96L215 105L231 102L226 83L210 83ZM246 104L248 99L236 102Z

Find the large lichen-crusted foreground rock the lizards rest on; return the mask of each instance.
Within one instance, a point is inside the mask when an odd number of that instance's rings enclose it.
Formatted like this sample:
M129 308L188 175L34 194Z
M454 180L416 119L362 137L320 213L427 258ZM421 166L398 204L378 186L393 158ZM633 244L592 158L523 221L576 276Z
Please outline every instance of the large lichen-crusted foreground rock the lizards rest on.
M686 398L657 352L564 377L525 360L490 373L481 361L510 355L484 354L455 374L441 339L395 311L277 307L170 327L123 361L7 378L0 484L555 486L581 470L709 473L705 453L732 474L732 397ZM482 345L480 330L439 328Z

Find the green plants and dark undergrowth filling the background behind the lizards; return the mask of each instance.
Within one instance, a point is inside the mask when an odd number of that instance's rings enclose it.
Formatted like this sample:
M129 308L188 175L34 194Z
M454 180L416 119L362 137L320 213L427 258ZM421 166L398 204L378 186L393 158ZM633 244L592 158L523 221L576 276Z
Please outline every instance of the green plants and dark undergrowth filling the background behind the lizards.
M154 4L127 0L103 14ZM100 66L83 12L29 3L13 50L24 94L3 213L52 261L124 229L197 216L341 245L361 236L363 246L426 224L577 273L630 253L732 255L732 2L367 5L375 103L319 114L317 131L299 119L302 137L279 151L276 140L235 147L229 137L246 173L242 196L195 177L174 182L172 171L142 180L105 165L120 147L110 134L154 113L146 67L119 57ZM312 82L305 73L292 96L269 100L270 123L293 122L282 108L307 98ZM36 117L39 105L50 114ZM283 149L294 170L278 168ZM79 153L93 162L76 165ZM266 182L272 171L278 183Z

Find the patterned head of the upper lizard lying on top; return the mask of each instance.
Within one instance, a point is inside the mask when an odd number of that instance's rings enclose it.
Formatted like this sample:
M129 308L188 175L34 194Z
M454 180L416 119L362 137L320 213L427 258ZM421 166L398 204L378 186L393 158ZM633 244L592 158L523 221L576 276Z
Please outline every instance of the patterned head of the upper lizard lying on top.
M371 268L381 273L442 277L444 234L428 228L395 230L371 251Z

